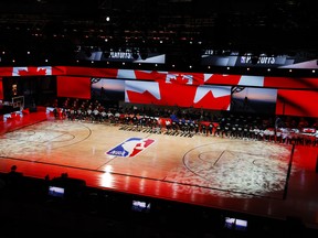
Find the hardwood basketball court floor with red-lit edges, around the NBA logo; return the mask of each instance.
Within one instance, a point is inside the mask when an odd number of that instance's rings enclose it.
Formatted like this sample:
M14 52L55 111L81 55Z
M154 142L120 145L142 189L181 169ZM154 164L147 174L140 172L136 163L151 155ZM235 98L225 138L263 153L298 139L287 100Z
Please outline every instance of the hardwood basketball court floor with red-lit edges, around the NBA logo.
M45 112L0 127L0 172L15 164L26 176L67 173L87 186L264 217L299 217L318 228L317 147L127 131L55 120ZM110 153L131 138L153 143L130 158Z

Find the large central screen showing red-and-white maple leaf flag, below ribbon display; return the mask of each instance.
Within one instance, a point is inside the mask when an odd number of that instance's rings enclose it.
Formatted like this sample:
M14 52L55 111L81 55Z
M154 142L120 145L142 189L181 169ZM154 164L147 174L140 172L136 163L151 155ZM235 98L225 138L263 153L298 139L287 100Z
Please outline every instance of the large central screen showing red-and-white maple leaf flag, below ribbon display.
M229 110L231 87L126 80L125 101L130 104Z

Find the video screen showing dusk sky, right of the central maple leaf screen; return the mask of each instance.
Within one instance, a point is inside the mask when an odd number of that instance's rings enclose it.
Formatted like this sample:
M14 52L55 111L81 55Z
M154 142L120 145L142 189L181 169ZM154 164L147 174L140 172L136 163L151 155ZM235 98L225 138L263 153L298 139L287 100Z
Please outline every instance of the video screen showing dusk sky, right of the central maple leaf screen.
M231 111L275 115L277 89L233 87Z

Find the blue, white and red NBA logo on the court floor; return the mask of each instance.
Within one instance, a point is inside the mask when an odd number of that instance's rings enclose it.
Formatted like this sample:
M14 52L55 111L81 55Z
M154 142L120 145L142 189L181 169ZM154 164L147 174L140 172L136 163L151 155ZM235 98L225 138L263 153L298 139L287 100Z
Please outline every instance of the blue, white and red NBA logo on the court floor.
M152 139L129 138L106 153L115 156L131 158L139 154L153 142L155 140Z

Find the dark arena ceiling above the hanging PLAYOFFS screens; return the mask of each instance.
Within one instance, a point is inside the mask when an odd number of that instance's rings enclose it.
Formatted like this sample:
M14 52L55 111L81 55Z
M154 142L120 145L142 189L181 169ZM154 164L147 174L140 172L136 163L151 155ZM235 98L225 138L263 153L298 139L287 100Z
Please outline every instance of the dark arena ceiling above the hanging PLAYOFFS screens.
M316 57L317 10L309 0L1 0L0 51L2 61L31 51L67 62L78 45L107 44L177 58L203 48Z

